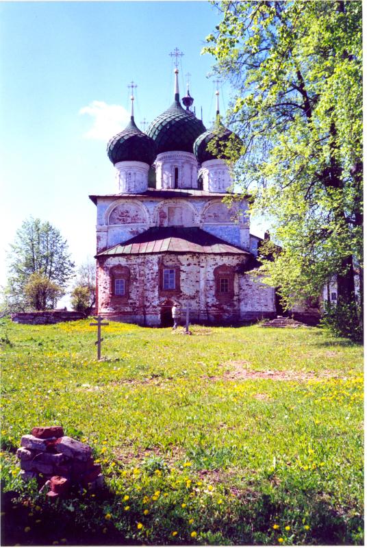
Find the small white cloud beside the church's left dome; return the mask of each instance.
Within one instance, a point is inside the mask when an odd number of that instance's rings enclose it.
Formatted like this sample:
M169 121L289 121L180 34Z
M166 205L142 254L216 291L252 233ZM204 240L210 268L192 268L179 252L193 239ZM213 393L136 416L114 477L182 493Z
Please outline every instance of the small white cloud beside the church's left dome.
M92 101L79 110L92 118L92 127L84 134L87 139L108 140L127 125L130 114L121 105L107 105L104 101Z

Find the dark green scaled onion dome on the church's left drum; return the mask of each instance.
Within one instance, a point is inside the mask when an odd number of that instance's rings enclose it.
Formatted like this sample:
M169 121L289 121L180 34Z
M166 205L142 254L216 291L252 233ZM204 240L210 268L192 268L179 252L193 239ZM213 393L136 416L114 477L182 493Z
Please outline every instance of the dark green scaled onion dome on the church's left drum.
M112 164L135 161L150 166L157 153L153 139L140 131L134 122L134 116L131 116L125 129L108 142L107 155Z

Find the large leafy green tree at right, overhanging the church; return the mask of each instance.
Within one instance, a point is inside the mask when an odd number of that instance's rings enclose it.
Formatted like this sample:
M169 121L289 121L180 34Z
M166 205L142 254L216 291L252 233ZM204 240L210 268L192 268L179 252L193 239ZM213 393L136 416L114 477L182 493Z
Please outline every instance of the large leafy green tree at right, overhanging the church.
M205 51L229 78L229 121L244 142L240 169L253 213L273 219L267 282L286 306L320 294L333 275L357 314L362 285L362 3L216 3L223 21ZM246 187L246 188L245 188ZM266 249L264 255L267 254Z

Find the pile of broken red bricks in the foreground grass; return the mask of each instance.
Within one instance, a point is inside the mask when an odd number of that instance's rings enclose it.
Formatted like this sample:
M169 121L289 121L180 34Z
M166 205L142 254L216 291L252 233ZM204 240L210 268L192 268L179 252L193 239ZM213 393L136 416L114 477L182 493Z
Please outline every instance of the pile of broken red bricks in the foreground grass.
M101 465L94 462L92 449L64 436L61 426L34 427L22 437L16 456L21 460L21 477L46 480L50 498L66 495L75 484L88 489L103 486Z

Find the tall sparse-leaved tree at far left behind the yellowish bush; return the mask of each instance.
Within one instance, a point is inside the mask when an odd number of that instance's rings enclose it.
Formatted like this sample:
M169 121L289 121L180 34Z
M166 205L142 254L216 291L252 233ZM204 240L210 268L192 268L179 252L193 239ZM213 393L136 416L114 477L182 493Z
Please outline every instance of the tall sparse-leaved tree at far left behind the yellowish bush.
M34 307L36 280L58 286L58 297L62 296L68 280L73 275L74 263L68 253L68 245L58 229L40 219L28 219L16 232L14 244L10 246L8 286L5 296L8 310L19 312ZM31 278L32 275L36 277ZM27 284L29 292L25 291ZM42 284L41 284L42 282ZM49 286L51 291L51 285ZM45 301L46 302L46 301ZM46 306L46 305L45 305ZM47 298L47 306L49 299Z

